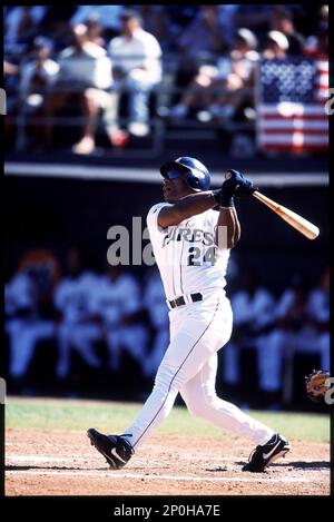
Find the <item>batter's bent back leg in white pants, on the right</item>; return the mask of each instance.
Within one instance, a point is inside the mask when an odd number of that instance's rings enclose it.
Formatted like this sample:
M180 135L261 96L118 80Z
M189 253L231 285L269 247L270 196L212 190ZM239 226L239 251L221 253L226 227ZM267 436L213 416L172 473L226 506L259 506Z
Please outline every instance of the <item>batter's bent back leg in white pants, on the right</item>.
M228 430L256 444L265 444L274 431L217 396L217 354L214 354L198 374L181 387L180 394L189 412L222 430Z

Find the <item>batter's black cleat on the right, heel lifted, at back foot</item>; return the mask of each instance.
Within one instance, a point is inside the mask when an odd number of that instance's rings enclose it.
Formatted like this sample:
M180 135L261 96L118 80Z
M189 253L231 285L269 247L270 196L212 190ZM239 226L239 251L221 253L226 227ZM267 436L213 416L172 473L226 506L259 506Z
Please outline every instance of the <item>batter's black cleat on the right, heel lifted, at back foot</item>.
M289 450L289 443L279 433L275 433L266 444L253 450L249 462L244 465L243 471L261 473L279 456L285 456Z

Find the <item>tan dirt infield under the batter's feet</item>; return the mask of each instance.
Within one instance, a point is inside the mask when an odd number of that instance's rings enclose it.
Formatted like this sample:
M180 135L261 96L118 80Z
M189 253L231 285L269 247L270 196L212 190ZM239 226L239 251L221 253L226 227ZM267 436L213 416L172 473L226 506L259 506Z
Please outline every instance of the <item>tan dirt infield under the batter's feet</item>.
M292 444L254 474L240 471L252 449L245 441L157 435L111 471L82 432L7 430L6 495L328 495L330 444Z

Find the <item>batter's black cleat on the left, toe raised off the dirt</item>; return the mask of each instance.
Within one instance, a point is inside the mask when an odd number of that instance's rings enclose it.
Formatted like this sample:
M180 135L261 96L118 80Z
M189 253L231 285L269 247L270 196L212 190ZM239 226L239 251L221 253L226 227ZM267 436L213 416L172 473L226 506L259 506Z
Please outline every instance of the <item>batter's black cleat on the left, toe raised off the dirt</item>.
M90 444L104 455L112 470L119 470L125 466L135 453L131 444L119 435L104 435L94 427L87 431Z

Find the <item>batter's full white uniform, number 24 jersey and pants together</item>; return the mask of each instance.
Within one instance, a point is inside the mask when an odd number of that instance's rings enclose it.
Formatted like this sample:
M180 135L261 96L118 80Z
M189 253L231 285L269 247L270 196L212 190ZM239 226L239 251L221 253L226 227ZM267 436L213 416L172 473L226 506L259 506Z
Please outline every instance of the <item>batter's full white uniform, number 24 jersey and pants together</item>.
M232 333L232 308L224 289L229 250L215 245L218 214L207 210L164 229L158 214L168 205L151 207L147 226L167 301L183 296L185 304L169 311L170 343L153 392L126 437L135 450L139 447L180 393L191 414L265 444L274 431L216 395L217 351ZM202 301L193 301L198 294Z

